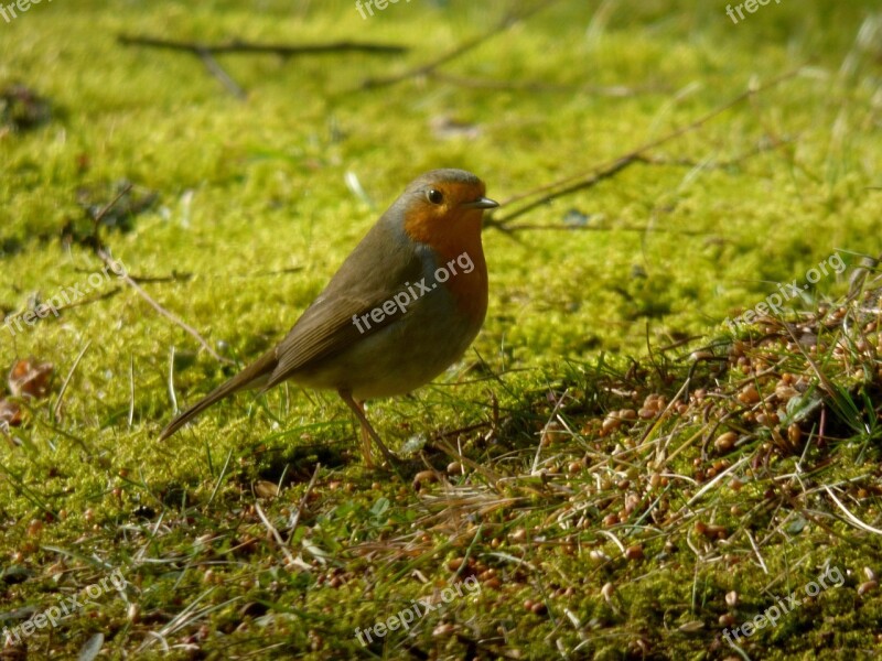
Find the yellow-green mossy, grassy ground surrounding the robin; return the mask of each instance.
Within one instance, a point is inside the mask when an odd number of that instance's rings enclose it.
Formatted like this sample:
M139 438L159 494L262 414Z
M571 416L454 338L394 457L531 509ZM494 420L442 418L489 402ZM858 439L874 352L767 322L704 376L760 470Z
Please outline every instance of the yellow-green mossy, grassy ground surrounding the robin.
M94 283L58 317L0 327L0 365L31 370L0 404L0 628L87 602L0 655L876 654L882 17L817 0L733 24L693 4L558 2L440 69L471 86L384 89L361 85L509 4L363 20L331 0L84 0L0 21L0 311L14 324ZM192 55L121 33L411 51L218 55L243 101ZM101 241L245 362L421 171L472 170L505 202L786 72L527 227L487 228L473 350L369 409L411 484L368 472L345 407L295 386L157 443L172 392L195 401L236 368L95 275L94 217L123 182ZM809 282L835 254L841 272ZM792 282L782 313L723 323ZM96 594L115 570L126 586ZM774 626L731 635L792 594ZM408 630L361 644L416 600Z

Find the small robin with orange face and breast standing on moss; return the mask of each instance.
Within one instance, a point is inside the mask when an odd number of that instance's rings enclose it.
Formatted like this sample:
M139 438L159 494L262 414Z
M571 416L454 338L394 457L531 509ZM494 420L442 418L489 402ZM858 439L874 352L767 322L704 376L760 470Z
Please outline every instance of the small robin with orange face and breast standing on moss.
M243 389L279 383L335 390L361 424L365 465L370 441L386 447L364 411L368 399L406 394L459 360L487 312L483 214L499 206L465 170L415 178L343 261L284 338L239 373L178 414L174 434L208 407Z

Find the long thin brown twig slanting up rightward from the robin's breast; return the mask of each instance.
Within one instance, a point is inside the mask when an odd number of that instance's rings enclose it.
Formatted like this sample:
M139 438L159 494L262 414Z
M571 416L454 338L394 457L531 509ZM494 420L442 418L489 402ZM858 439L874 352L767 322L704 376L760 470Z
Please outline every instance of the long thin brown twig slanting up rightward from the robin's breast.
M515 218L523 216L524 214L527 214L528 212L531 212L536 207L539 207L548 202L551 202L552 199L557 199L558 197L569 195L571 193L581 191L583 188L590 188L596 185L598 183L619 174L620 172L622 172L626 167L630 167L634 163L652 162L648 159L648 156L646 156L646 152L656 149L667 142L671 142L677 138L685 136L686 133L690 133L692 131L701 129L706 123L708 123L710 120L714 119L719 115L722 115L727 110L733 108L734 106L738 106L739 104L745 101L746 99L750 99L763 91L766 91L768 89L772 89L773 87L781 85L785 80L789 80L798 73L799 69L796 68L778 76L777 78L773 78L772 80L765 83L764 85L750 87L746 90L742 91L740 95L730 99L729 101L722 104L721 106L718 106L713 110L710 110L709 112L701 116L697 120L684 127L675 129L674 131L663 136L662 138L646 142L645 144L638 147L634 151L628 152L623 156L619 156L617 159L614 159L613 161L610 161L604 165L601 165L600 167L595 169L594 172L592 172L591 174L571 175L562 180L558 180L557 182L553 182L551 184L540 186L539 188L535 188L527 193L521 193L520 195L516 195L509 199L506 199L502 205L503 207L507 207L508 205L520 202L523 199L540 195L539 198L526 204L525 206L509 213L506 216L503 216L502 218L491 217L486 219L485 226L495 227L496 229L502 229L504 231L510 231L513 228L507 227L507 224L514 220ZM777 147L777 144L778 144L777 142L773 143L774 147ZM561 188L561 186L563 187Z

